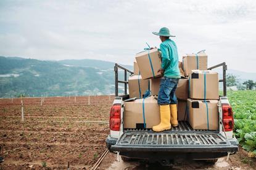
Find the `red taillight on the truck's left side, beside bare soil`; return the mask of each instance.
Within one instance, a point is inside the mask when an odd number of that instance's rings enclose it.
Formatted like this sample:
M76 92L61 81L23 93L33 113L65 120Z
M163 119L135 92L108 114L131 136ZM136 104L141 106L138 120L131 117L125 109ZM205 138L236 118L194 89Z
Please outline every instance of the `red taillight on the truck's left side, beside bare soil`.
M109 128L112 131L120 131L121 104L114 104L110 110Z

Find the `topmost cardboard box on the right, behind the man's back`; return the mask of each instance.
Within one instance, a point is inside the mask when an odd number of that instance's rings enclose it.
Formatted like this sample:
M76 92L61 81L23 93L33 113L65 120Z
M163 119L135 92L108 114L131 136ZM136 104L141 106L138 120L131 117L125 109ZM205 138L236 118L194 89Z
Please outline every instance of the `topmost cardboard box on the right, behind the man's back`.
M192 70L196 69L207 70L207 54L205 52L183 56L184 75L187 77Z

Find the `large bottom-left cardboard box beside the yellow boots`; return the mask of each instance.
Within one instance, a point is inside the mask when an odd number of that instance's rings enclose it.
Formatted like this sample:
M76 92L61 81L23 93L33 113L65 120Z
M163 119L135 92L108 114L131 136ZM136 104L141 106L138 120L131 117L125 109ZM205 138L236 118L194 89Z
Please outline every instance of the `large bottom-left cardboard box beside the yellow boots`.
M142 102L143 99L125 101L124 128L144 128ZM159 104L153 96L144 99L144 117L146 128L152 128L160 123Z

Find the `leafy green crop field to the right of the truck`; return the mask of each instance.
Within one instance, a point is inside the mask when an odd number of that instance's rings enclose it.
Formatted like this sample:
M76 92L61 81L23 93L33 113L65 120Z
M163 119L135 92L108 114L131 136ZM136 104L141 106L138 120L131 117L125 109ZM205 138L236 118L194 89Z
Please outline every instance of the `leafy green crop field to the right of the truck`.
M234 134L243 149L256 154L256 91L228 91L234 112Z

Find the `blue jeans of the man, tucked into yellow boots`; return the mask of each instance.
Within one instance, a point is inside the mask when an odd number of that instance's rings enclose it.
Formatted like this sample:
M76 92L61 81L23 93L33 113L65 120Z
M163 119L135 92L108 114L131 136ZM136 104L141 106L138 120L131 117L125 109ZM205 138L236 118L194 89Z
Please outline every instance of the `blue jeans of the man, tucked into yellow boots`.
M177 104L175 91L180 79L172 79L163 77L160 82L160 89L158 94L158 104Z

